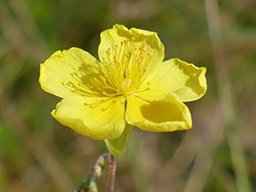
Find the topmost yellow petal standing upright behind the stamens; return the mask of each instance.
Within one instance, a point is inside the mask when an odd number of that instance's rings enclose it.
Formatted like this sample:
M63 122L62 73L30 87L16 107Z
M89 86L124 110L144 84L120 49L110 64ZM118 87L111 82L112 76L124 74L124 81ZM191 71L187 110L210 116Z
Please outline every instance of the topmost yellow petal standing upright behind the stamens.
M135 38L135 47L141 46L143 42L153 50L153 55L148 63L147 73L152 72L165 56L164 45L160 42L156 32L149 32L142 29L131 28L116 24L113 28L105 30L101 33L101 44L99 45L98 55L100 61L106 61L106 50L112 45L119 45L125 39Z

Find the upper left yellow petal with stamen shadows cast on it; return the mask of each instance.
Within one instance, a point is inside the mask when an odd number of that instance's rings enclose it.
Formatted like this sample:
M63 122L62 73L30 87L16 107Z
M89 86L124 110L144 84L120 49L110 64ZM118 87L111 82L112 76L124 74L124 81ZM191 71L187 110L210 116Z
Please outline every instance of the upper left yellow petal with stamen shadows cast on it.
M59 97L102 96L105 89L99 62L79 48L56 51L40 65L43 90Z

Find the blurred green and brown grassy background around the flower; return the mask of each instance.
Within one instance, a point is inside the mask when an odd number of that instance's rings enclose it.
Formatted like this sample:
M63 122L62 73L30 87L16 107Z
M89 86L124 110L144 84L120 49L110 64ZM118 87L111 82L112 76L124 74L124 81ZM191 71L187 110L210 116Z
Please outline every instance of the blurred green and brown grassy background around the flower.
M158 32L166 60L207 67L208 84L192 130L132 131L115 191L256 191L255 0L0 0L0 191L70 192L107 151L52 119L38 72L58 49L97 57L115 23Z

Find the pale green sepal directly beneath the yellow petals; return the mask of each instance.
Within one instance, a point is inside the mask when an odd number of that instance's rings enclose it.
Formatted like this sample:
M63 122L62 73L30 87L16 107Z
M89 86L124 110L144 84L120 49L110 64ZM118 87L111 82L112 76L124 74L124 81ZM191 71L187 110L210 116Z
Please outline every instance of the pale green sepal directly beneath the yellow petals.
M108 150L117 159L124 152L126 144L131 136L132 125L125 125L125 131L122 136L116 139L105 139Z

